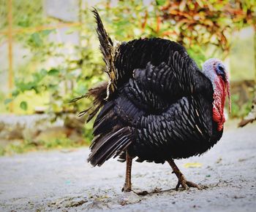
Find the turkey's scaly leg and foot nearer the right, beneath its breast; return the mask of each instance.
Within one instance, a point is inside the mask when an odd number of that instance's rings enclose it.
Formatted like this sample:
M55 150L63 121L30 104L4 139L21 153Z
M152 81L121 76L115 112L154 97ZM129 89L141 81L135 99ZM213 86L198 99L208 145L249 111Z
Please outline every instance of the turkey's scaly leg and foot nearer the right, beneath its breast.
M169 162L170 167L173 169L173 173L176 174L177 178L178 178L178 184L176 186L176 190L178 191L178 187L181 185L184 189L189 189L189 187L196 187L197 189L202 189L200 186L198 186L197 184L194 184L191 181L187 181L187 179L184 177L183 173L181 173L181 171L178 169L177 165L174 163L174 161L171 160L167 160L167 162Z

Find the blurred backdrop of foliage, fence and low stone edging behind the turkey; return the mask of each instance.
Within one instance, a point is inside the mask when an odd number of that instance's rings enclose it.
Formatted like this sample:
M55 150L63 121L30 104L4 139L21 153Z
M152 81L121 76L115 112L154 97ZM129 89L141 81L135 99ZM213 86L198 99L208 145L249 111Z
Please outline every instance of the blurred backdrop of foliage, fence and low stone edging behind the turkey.
M0 155L90 144L91 123L69 103L106 80L94 17L112 39L179 42L202 66L220 58L230 71L232 112L249 113L255 96L256 3L218 0L0 0Z

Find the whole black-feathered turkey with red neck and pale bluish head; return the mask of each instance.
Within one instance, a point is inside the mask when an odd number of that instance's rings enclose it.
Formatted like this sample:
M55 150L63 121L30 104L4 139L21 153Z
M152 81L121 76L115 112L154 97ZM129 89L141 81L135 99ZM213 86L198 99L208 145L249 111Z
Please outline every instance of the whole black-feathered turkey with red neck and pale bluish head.
M83 97L93 105L80 113L94 116L94 139L88 161L100 166L111 157L126 162L124 192L132 190L132 160L168 162L178 187L200 187L187 181L173 160L203 154L222 137L230 85L221 60L197 67L187 50L167 39L113 42L97 9L100 50L109 82ZM76 100L80 99L76 98Z

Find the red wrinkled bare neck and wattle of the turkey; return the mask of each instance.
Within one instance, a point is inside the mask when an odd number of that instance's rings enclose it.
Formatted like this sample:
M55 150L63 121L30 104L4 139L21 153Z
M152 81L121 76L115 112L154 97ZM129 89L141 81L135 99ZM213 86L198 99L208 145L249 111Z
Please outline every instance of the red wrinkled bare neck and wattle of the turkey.
M221 131L225 122L225 82L222 78L217 77L214 80L214 102L213 102L213 119L217 122L217 130Z

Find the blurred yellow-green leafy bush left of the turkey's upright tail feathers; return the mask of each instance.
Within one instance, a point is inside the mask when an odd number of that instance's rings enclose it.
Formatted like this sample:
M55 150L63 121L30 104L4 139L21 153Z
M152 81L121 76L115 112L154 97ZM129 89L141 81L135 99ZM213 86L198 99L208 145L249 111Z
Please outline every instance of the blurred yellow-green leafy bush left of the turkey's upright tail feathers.
M87 22L76 31L79 32L80 43L84 43L84 46L50 42L49 36L55 34L53 30L32 33L20 39L24 47L29 48L34 54L31 55L26 67L21 67L16 74L15 90L12 92L14 98L31 90L37 94L47 92L48 111L53 113L78 112L89 105L89 101L68 103L72 98L86 93L88 87L105 78L102 58L99 52L95 51L97 44L94 42L97 38L92 27L93 17L88 11L83 12L83 15ZM49 60L60 62L56 63L56 66L48 66ZM31 68L28 70L27 67L31 66L33 68L38 66L38 71ZM24 72L31 72L31 76L23 74ZM26 111L27 106L22 102L20 108Z

